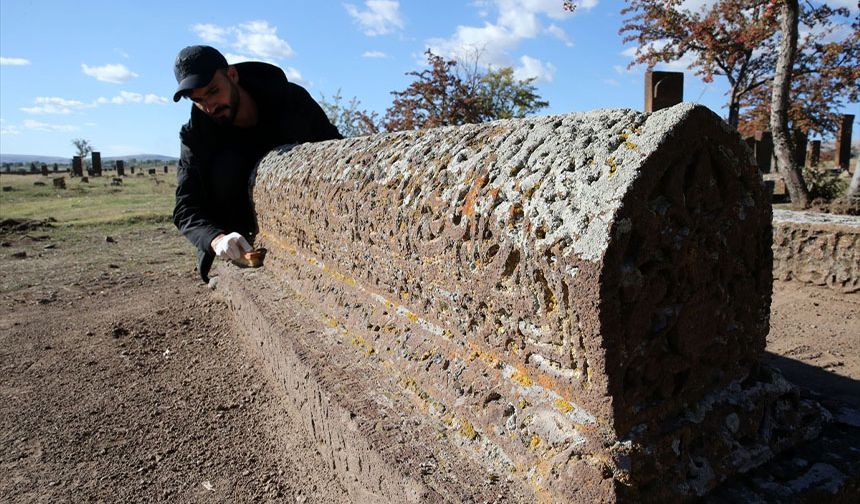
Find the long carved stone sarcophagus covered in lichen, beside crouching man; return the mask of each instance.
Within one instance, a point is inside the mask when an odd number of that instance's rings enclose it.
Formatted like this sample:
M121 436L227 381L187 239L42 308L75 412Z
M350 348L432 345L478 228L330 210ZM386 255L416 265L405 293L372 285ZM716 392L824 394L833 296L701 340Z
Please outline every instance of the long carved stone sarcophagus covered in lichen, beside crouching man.
M688 499L819 427L758 365L768 195L703 107L282 148L253 197L230 302L359 501Z

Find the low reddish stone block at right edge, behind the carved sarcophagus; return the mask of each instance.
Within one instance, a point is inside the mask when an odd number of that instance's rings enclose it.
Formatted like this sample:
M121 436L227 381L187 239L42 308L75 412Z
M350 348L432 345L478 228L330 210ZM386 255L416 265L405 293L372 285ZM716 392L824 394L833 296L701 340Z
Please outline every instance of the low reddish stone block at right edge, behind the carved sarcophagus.
M860 217L774 210L773 277L860 290Z

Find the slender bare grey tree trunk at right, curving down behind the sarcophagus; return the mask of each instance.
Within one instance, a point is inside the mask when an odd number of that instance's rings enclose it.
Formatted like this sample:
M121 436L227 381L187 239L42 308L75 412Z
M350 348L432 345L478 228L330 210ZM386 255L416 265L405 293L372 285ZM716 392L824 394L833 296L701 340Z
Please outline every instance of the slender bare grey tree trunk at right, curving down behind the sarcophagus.
M791 69L797 53L797 22L800 8L797 0L781 0L779 29L779 55L776 75L773 78L773 96L770 105L770 129L773 132L773 153L776 166L785 180L788 195L795 208L809 207L809 190L800 167L794 160L794 149L788 131L788 95L791 88Z

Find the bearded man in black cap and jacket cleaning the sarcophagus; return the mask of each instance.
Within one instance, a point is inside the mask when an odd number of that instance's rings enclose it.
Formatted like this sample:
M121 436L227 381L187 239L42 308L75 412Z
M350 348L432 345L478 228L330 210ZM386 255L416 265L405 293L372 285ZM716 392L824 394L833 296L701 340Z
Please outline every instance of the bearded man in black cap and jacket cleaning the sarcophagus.
M257 162L270 150L343 138L308 92L262 62L228 65L209 46L179 52L173 101L194 102L179 137L173 222L197 247L208 281L215 256L239 259L251 249L256 222L248 190Z

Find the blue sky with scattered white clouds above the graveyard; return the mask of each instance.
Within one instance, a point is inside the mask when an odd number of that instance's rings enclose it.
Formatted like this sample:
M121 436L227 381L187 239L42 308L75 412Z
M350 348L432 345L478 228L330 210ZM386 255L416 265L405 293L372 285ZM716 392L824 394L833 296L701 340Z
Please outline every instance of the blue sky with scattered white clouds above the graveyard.
M81 137L103 156L178 155L190 105L171 99L173 60L202 43L231 62L273 62L317 99L340 89L380 115L390 92L411 82L404 74L422 68L425 49L464 47L537 77L550 103L542 113L641 109L644 69L626 68L632 48L618 35L624 3L576 3L570 14L561 0L3 0L0 151L71 156L71 139ZM857 12L854 0L831 3ZM721 115L726 89L725 79L685 76L685 99ZM857 105L844 112L857 114Z

